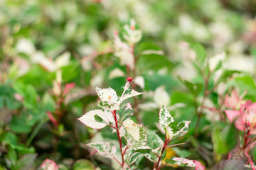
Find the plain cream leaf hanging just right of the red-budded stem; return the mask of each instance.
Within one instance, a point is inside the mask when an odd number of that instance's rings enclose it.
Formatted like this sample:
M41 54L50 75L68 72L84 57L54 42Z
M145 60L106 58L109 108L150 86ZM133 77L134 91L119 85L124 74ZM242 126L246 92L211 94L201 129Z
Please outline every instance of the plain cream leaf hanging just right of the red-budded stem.
M139 125L134 123L133 120L127 119L123 122L124 128L129 132L132 137L134 137L134 140L139 140Z

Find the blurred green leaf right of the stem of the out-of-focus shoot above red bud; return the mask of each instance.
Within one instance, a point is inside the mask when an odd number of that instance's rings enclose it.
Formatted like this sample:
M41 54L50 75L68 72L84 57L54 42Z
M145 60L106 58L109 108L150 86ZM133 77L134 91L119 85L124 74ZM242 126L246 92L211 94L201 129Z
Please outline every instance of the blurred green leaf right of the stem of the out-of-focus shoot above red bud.
M147 72L149 70L157 71L163 67L171 69L174 64L164 55L149 54L139 57L137 67L139 72Z

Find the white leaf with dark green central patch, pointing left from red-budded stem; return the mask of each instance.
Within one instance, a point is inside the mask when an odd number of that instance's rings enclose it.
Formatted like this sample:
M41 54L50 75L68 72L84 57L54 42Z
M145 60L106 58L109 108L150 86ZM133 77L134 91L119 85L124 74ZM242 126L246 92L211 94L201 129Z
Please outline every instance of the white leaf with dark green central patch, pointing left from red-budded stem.
M89 111L78 118L78 120L93 129L102 129L109 124L106 113L100 109Z

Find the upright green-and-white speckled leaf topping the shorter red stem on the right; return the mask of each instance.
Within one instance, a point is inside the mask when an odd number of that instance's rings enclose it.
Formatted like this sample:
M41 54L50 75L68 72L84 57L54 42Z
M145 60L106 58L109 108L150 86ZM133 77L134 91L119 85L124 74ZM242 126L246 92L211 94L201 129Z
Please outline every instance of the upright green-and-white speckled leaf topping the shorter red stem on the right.
M174 122L174 118L170 115L166 106L162 106L159 112L159 124L160 127L166 131L166 126Z

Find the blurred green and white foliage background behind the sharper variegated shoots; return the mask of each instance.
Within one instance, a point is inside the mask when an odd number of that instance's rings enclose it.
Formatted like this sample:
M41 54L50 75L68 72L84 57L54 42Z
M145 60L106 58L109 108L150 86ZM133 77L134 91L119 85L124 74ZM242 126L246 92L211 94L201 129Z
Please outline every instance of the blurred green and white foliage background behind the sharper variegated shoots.
M115 136L109 129L88 129L77 118L97 108L95 86L112 86L120 95L127 76L137 79L134 89L146 92L132 101L146 128L158 130L162 103L186 104L172 111L178 120L192 121L188 137L179 141L188 144L174 153L213 167L236 143L230 145L231 137L222 149L213 148L211 134L219 132L214 121L221 115L210 111L201 121L202 135L189 138L197 119L193 95L177 77L201 81L188 41L198 42L209 58L225 52L223 69L246 74L218 87L208 106L217 107L218 94L238 81L241 92L249 91L245 97L255 100L255 14L253 0L0 0L0 169L37 169L44 159L55 160L60 169L114 169L84 144ZM117 54L114 42L131 19L142 31L133 67ZM161 57L139 57L146 50ZM139 164L153 166L146 159Z

